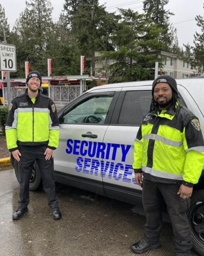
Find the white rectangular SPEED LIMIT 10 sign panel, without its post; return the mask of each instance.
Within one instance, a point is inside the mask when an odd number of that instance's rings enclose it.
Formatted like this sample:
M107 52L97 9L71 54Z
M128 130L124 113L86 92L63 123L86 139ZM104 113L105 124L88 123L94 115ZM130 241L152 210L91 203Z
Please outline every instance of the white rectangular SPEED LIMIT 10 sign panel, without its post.
M16 72L16 47L0 44L0 69Z

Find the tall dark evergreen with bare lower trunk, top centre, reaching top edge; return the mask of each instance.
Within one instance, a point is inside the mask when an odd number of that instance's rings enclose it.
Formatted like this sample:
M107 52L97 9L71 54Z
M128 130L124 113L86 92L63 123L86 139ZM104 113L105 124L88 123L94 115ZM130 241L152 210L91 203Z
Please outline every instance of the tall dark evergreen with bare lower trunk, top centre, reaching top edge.
M76 41L81 55L92 56L95 73L95 52L112 49L109 36L116 28L117 15L99 6L98 0L66 0L64 5L67 28Z

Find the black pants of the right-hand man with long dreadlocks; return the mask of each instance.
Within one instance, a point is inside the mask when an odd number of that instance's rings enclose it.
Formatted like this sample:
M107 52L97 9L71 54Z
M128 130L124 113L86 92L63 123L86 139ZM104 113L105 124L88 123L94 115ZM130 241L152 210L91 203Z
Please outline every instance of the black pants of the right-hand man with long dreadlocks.
M167 204L175 239L177 255L188 255L191 250L191 230L187 218L190 199L184 200L177 195L179 184L165 184L143 180L142 200L146 212L144 238L150 244L159 241L159 231L162 226L162 196Z

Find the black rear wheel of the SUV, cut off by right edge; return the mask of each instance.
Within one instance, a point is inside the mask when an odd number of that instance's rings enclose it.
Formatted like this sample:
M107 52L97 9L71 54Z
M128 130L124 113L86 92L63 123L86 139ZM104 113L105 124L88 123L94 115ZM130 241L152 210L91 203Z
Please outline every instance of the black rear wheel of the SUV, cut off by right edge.
M197 190L191 197L188 219L192 233L193 249L203 255L204 251L204 189Z

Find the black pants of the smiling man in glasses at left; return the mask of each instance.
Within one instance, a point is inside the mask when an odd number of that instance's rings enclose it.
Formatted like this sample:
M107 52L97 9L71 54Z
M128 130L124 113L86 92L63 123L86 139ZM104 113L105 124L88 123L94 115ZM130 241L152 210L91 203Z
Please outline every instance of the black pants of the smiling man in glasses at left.
M42 178L43 188L48 198L48 205L54 209L58 207L58 199L55 193L55 182L54 182L54 162L53 158L45 160L46 145L40 146L22 146L19 145L20 161L18 163L19 174L20 174L20 193L18 206L25 208L28 206L29 198L29 184L30 177L34 162L36 161Z

